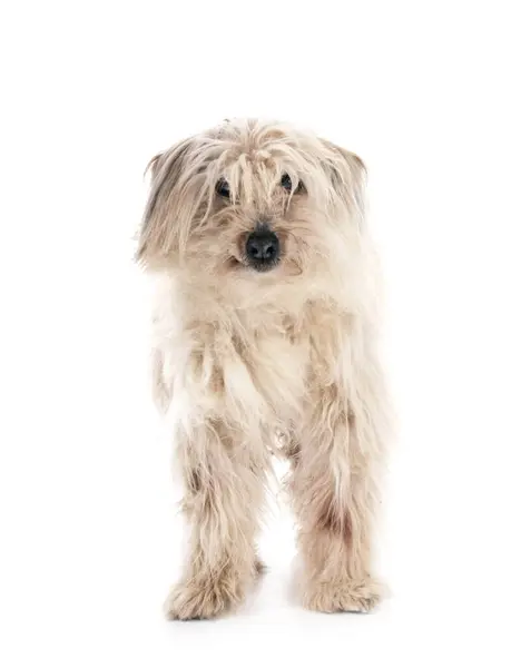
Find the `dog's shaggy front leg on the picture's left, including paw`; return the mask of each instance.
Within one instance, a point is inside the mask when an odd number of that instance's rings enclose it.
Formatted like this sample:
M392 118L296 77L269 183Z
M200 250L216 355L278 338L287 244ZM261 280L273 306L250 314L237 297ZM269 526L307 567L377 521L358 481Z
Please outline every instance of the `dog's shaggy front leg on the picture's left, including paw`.
M165 603L170 619L204 619L235 608L257 574L265 471L238 433L208 420L179 444L191 537L185 573Z

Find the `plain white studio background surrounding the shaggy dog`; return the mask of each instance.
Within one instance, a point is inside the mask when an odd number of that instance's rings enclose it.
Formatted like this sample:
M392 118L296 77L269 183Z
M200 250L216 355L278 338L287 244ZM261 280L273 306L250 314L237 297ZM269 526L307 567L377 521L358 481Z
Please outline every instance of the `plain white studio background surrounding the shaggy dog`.
M2 667L520 665L517 4L2 4ZM368 167L401 420L368 617L291 602L284 510L245 610L161 616L181 523L131 237L151 155L243 115Z

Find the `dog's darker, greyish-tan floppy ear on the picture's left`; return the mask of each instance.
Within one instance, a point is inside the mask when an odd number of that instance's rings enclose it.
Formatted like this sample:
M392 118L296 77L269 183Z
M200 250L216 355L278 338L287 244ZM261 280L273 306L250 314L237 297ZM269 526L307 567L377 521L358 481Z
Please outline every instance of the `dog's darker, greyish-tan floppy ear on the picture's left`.
M160 153L148 163L150 191L142 215L136 259L149 264L171 249L175 237L176 204L181 195L185 159L190 150L187 139Z

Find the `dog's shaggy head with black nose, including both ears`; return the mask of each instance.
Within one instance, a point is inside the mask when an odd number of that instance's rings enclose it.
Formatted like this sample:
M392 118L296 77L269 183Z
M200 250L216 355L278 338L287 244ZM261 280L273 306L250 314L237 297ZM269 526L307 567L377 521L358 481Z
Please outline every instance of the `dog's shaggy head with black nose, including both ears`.
M279 281L318 271L363 232L364 167L287 126L227 121L156 156L138 258L190 276Z

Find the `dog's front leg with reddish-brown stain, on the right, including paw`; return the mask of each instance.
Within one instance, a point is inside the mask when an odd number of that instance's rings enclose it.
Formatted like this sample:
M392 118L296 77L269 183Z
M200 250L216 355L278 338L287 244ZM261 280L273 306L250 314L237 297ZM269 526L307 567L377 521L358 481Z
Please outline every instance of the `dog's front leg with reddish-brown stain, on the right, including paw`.
M299 439L293 490L302 598L323 612L367 611L382 595L371 562L381 406L367 381L352 393L341 384L317 387Z

